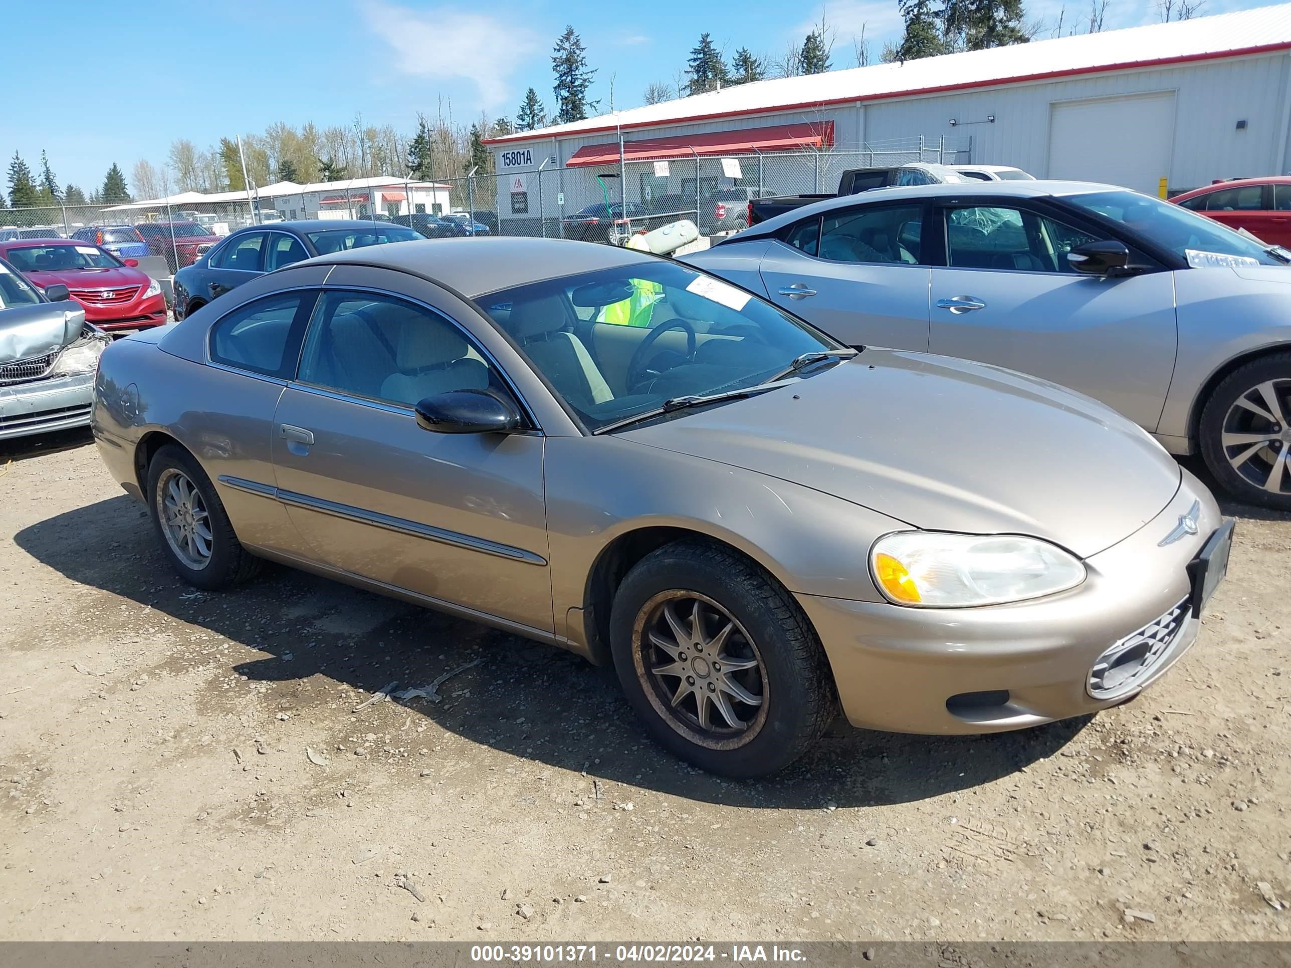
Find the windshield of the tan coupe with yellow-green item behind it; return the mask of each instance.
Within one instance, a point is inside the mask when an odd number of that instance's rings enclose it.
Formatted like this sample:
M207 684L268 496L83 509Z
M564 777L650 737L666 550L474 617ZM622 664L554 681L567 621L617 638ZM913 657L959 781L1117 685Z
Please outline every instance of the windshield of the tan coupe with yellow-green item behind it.
M662 259L476 302L591 431L665 400L753 387L803 354L843 348L757 296Z

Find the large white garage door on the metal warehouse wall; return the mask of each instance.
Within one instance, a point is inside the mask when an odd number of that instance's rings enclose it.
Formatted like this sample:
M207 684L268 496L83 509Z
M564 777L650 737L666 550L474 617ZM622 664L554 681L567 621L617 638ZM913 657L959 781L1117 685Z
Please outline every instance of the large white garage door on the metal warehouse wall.
M1050 178L1106 182L1155 195L1170 176L1175 93L1050 106Z

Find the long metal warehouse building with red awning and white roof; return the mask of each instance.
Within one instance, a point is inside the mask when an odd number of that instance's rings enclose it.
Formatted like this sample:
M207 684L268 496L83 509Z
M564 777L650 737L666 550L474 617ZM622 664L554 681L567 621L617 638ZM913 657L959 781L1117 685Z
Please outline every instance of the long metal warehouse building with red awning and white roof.
M766 80L489 146L500 218L550 235L603 197L704 214L720 190L831 191L846 168L915 159L1175 192L1286 173L1288 123L1285 4Z

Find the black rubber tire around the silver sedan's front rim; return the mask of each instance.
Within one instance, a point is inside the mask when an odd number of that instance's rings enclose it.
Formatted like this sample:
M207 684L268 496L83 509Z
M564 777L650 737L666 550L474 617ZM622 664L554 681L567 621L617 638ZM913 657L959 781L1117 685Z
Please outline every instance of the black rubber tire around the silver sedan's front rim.
M1239 399L1248 394L1257 394L1257 387L1270 381L1278 385L1281 413L1273 416L1281 417L1281 423L1270 425L1268 419L1252 410L1234 409ZM1274 493L1266 489L1261 481L1268 484L1269 476L1274 472L1273 465L1278 459L1285 462L1287 459L1285 452L1291 448L1291 435L1287 435L1286 423L1287 419L1291 419L1288 387L1291 387L1291 352L1273 354L1243 364L1224 377L1215 387L1202 409L1198 429L1202 457L1220 487L1238 501L1278 511L1291 511L1291 465L1285 466L1281 471L1279 492ZM1266 400L1263 395L1256 395L1252 399L1266 408ZM1273 427L1278 427L1278 430L1274 431ZM1225 431L1286 436L1281 440L1270 440L1265 448L1247 456L1238 470L1230 463L1229 454L1225 453L1223 443ZM1232 448L1235 457L1245 456L1245 452L1243 447Z

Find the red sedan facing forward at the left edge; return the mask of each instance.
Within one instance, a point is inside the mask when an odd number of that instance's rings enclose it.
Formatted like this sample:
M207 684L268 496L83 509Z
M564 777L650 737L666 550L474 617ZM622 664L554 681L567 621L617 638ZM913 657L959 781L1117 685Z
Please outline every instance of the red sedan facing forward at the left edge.
M0 243L0 257L39 289L62 283L99 329L146 329L165 323L161 285L121 261L76 239L19 239Z

